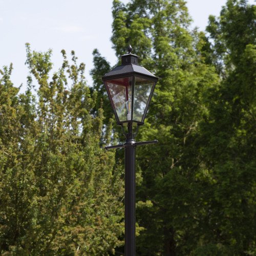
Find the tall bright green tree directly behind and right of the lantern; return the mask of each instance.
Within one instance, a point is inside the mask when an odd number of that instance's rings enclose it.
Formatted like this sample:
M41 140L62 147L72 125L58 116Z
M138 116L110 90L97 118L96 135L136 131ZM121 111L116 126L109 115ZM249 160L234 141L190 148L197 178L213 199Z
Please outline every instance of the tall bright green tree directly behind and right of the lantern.
M113 2L112 42L117 55L131 44L158 82L139 139L159 145L138 148L143 180L137 186L137 239L141 255L189 254L203 235L200 218L209 177L199 159L204 95L218 76L210 65L205 35L189 31L184 1Z

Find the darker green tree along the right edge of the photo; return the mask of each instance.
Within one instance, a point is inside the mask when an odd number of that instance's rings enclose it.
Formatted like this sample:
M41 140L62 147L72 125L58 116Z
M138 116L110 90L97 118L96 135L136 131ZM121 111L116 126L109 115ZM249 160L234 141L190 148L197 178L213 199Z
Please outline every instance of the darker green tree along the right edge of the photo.
M205 97L209 113L201 123L201 159L212 177L205 222L208 242L225 255L256 252L255 10L229 0L207 27L222 80Z

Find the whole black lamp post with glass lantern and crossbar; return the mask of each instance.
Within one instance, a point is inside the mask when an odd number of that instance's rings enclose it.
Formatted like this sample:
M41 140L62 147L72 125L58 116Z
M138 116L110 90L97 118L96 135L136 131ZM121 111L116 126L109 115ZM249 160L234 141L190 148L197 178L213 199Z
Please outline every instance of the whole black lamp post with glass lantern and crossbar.
M126 138L124 144L107 146L125 150L125 256L135 256L135 149L136 146L157 143L157 140L136 142L139 125L144 124L148 106L158 77L138 65L138 56L128 53L121 56L121 65L102 77L116 122ZM136 126L136 131L133 131ZM124 131L126 128L126 132Z

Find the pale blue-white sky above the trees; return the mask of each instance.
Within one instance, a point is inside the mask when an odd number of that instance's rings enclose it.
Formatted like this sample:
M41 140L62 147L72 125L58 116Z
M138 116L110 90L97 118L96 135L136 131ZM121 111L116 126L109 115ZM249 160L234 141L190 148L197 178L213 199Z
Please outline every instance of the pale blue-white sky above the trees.
M129 0L122 0L128 3ZM187 0L193 27L205 30L208 16L219 15L226 0ZM248 1L253 4L253 0ZM0 0L0 68L13 63L12 81L26 84L25 43L32 50L53 50L54 71L62 63L60 51L74 50L78 62L86 63L86 78L93 68L92 51L97 48L111 65L117 58L112 49L112 0ZM22 87L22 91L25 87Z

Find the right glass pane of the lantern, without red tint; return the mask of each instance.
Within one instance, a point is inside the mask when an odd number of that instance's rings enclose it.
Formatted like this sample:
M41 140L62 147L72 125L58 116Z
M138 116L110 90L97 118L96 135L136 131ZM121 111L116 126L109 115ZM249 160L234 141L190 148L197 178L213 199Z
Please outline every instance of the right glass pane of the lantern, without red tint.
M135 77L133 120L141 121L154 83L151 80Z

